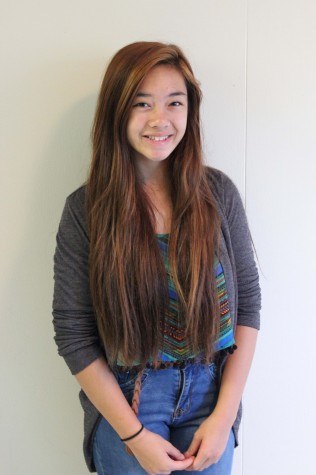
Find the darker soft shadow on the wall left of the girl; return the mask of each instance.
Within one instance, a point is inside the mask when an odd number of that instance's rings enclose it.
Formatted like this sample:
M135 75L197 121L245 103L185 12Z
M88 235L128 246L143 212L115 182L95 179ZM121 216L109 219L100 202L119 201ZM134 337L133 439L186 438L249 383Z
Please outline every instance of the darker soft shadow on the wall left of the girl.
M47 345L57 354L53 342L51 324L51 301L53 295L53 254L55 237L66 197L81 186L88 174L91 146L90 132L96 105L96 94L87 96L71 107L58 121L41 154L38 169L33 175L34 186L28 220L27 242L33 243L32 262L25 268L33 269L28 274L28 295L32 292L42 296L39 307L34 312L34 322L43 325L41 330L48 337ZM19 265L21 261L19 260ZM39 291L39 287L41 291ZM35 295L34 295L35 297ZM28 305L32 306L33 298ZM43 309L48 318L43 318ZM43 348L44 349L44 348Z

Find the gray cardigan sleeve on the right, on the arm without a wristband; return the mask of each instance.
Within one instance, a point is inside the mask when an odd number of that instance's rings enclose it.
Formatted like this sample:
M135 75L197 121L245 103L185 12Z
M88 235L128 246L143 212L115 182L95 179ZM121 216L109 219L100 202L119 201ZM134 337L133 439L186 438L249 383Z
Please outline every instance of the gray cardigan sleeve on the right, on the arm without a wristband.
M222 230L235 274L237 325L260 328L261 290L254 247L239 191L223 172L209 169L219 201Z

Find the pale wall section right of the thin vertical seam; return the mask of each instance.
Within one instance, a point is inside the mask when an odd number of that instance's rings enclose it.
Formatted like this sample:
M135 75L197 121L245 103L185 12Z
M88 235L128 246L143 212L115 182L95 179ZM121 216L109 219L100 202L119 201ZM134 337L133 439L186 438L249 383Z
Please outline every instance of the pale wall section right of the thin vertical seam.
M251 0L248 19L246 196L264 309L243 467L247 475L313 475L316 3Z

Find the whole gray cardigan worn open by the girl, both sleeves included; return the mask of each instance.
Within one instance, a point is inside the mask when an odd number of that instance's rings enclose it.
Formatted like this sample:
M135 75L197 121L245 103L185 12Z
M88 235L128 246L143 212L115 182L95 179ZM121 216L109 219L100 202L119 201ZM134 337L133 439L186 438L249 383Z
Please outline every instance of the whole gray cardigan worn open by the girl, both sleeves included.
M208 168L207 174L221 219L219 259L225 274L234 329L237 324L259 329L259 278L240 195L222 172ZM72 374L104 356L91 302L88 261L85 187L81 187L66 200L54 256L55 341ZM225 356L220 362L220 371L224 363ZM84 455L89 470L93 472L92 444L100 414L83 391L80 391L79 398L84 410ZM236 444L240 419L241 406L233 427Z

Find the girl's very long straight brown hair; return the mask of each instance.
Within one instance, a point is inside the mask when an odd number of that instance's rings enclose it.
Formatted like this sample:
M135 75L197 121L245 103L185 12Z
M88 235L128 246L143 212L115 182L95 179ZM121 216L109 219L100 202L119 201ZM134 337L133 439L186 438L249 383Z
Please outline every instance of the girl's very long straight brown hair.
M127 366L135 360L142 365L149 358L155 361L162 343L166 271L153 209L137 178L126 133L138 88L160 64L177 68L188 92L187 129L167 159L173 205L171 274L193 349L210 358L218 335L214 257L219 219L202 159L201 91L177 46L133 43L113 57L103 79L87 183L91 294L110 365L117 358Z

